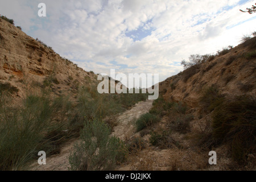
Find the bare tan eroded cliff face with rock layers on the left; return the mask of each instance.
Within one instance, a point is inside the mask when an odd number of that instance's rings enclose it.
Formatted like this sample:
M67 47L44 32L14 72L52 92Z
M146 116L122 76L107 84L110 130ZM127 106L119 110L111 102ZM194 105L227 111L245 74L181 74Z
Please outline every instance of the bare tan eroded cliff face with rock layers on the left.
M36 89L47 79L55 94L72 94L77 85L96 81L96 75L0 18L0 82L18 88L16 96L22 97L28 85Z

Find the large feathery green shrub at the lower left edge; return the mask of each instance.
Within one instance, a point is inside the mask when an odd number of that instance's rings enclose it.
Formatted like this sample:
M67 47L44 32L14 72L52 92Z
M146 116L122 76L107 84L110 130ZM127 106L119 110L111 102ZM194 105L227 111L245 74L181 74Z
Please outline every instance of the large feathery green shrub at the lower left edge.
M45 97L28 96L23 107L3 104L0 110L0 169L15 170L32 159L50 126L51 107Z

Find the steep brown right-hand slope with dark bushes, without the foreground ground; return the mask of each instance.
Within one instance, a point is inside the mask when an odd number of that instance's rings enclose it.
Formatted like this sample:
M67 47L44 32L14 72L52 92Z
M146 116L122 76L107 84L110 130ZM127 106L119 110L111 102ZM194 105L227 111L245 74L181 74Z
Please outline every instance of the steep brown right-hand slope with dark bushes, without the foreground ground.
M160 83L165 102L186 108L179 117L164 114L166 127L178 131L172 137L194 151L217 151L222 166L212 169L254 169L255 68L254 36Z

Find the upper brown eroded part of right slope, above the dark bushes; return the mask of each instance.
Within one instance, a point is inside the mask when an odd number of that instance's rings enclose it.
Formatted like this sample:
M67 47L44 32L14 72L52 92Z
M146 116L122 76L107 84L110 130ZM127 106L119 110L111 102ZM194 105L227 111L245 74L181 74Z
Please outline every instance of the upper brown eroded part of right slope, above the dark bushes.
M250 43L232 48L225 55L215 56L207 62L189 68L160 83L160 92L166 100L183 102L189 107L200 107L204 89L216 85L227 97L256 94L256 37Z

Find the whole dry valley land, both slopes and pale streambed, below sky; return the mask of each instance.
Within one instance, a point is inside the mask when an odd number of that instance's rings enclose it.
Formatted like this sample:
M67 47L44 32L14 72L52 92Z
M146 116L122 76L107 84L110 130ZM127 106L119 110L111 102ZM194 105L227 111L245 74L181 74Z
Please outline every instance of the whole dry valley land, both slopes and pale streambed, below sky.
M192 56L154 102L99 94L97 75L2 18L0 50L0 170L255 170L255 36Z

